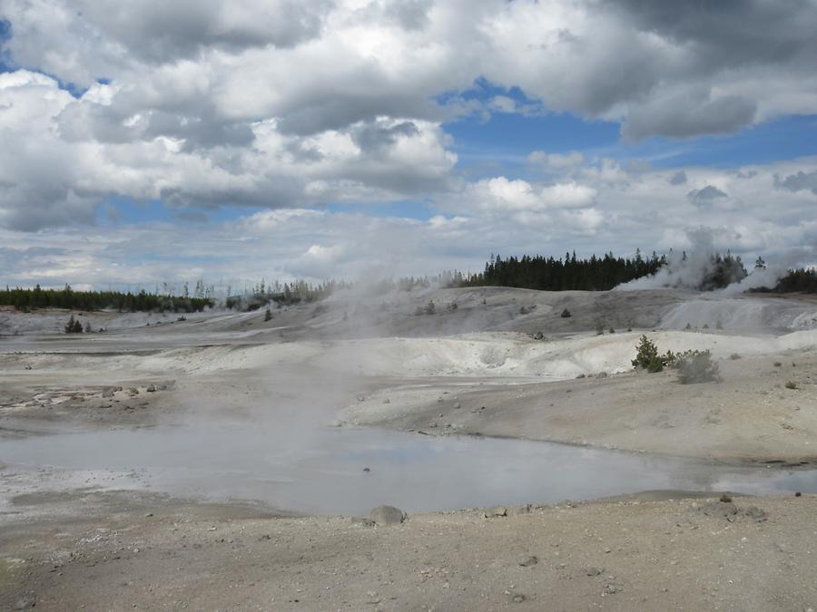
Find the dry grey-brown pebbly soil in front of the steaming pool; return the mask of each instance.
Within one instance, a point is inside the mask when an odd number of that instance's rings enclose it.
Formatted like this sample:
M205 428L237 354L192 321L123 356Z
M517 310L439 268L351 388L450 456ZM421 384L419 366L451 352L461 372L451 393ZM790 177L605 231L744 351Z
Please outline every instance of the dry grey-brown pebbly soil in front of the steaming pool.
M382 527L93 498L72 503L110 513L4 529L2 609L817 606L813 496L463 510Z

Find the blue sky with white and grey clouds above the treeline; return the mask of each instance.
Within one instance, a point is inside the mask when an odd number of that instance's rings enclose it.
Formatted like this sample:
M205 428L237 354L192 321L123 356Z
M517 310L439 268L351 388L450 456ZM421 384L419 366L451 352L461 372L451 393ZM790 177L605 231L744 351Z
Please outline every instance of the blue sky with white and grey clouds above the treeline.
M3 0L0 283L817 246L817 0ZM792 256L796 253L796 256Z

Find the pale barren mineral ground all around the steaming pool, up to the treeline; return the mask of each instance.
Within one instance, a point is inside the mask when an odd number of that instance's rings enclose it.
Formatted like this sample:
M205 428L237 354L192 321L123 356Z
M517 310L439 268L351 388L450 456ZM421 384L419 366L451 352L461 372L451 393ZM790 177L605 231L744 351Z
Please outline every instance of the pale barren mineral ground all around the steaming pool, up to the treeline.
M418 314L429 300L434 313ZM162 488L106 455L112 428L158 444L152 432L215 423L235 435L202 438L202 457L252 448L241 432L255 427L277 432L285 464L328 425L364 425L784 464L796 481L791 466L813 474L817 460L812 299L474 288L340 295L268 322L263 311L74 315L107 331L61 335L67 311L0 312L0 609L817 609L808 487L720 504L675 491L536 505L525 484L496 500L534 504L508 516L368 527L235 500L266 499L250 490ZM722 382L635 372L645 333L662 352L712 351ZM71 440L90 441L96 462L49 462ZM32 449L41 462L17 454ZM434 461L422 469L433 481ZM329 495L343 474L321 470Z

